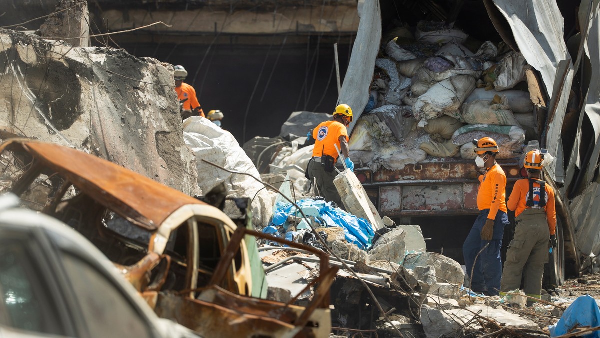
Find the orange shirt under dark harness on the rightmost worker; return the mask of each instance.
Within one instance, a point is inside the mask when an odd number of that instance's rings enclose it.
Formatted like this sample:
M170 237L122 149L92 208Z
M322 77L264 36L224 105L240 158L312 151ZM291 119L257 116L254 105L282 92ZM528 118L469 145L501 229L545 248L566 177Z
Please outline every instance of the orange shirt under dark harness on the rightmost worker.
M533 183L533 201L539 201L539 183ZM550 228L550 235L556 234L556 202L554 201L554 189L550 184L546 184L546 218L548 219L548 227ZM537 194L536 194L537 193ZM515 187L512 188L511 196L508 198L508 208L515 212L515 217L518 217L527 207L527 196L529 195L529 180L524 178L518 180L515 183Z

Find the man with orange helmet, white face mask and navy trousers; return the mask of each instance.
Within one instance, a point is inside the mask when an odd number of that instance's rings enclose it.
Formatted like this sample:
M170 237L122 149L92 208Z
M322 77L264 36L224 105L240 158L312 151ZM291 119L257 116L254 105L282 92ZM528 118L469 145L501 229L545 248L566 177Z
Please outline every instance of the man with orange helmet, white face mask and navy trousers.
M471 290L484 295L500 293L502 261L500 248L504 227L509 224L506 214L506 174L496 163L500 152L495 140L483 137L473 140L479 171L477 207L479 216L463 244L464 264L470 277Z

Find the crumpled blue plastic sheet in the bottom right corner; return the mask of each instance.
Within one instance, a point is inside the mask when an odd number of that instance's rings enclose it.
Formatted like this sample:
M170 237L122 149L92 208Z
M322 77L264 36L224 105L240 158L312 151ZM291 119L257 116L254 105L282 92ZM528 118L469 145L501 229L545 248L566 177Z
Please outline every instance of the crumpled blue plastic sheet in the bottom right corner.
M558 337L569 333L574 327L599 327L600 309L596 300L589 295L577 298L565 313L560 321L549 327L550 337ZM600 338L600 332L595 331L583 337Z

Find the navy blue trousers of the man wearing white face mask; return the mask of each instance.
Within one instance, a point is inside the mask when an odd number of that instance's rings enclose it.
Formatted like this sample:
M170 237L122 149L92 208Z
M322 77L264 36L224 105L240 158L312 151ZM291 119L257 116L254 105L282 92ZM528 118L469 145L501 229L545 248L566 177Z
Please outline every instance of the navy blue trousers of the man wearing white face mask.
M464 265L467 267L467 275L471 280L471 289L476 292L487 291L490 295L498 295L500 292L500 280L502 279L502 261L500 260L500 248L504 237L504 227L508 225L508 215L498 211L494 220L494 236L491 241L481 239L481 229L485 225L490 210L482 210L473 228L463 244ZM488 247L479 253L486 244ZM475 258L479 254L477 261ZM475 264L475 270L473 270ZM473 276L471 277L471 274Z

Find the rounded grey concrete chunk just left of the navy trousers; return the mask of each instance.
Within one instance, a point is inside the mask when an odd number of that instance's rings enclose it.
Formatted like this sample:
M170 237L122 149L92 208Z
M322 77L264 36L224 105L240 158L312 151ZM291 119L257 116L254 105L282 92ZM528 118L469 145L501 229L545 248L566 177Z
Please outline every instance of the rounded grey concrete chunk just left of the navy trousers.
M404 259L404 267L412 270L416 267L433 267L436 271L437 283L463 285L463 268L454 259L439 253L423 252L408 255Z

